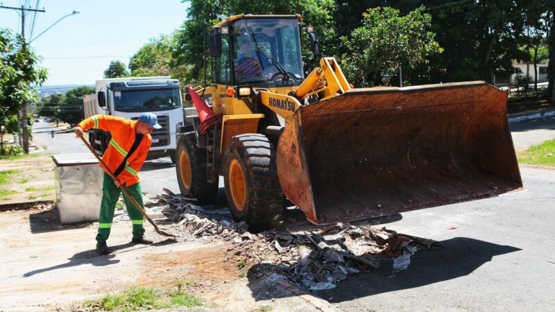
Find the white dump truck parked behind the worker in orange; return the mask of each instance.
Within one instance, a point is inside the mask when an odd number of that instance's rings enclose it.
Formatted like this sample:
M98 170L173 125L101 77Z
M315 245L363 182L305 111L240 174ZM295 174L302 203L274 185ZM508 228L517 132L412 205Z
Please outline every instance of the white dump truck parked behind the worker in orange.
M96 94L83 96L85 118L108 114L136 120L144 112L156 114L161 129L152 133L147 159L169 156L175 162L176 129L183 125L180 83L169 76L127 77L96 80ZM103 155L110 132L89 130L89 144Z

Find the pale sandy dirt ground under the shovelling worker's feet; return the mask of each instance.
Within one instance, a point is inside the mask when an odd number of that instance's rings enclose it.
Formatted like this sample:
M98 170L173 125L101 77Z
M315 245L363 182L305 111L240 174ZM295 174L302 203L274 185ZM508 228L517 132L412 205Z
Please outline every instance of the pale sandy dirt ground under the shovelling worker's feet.
M108 241L115 251L101 256L94 250L94 223L60 225L56 209L3 211L0 218L0 311L79 311L83 300L130 286L169 288L178 280L205 300L203 311L334 311L280 285L278 275L251 269L239 277L237 259L224 244L173 241L146 225L155 243L132 245L131 225L121 221Z

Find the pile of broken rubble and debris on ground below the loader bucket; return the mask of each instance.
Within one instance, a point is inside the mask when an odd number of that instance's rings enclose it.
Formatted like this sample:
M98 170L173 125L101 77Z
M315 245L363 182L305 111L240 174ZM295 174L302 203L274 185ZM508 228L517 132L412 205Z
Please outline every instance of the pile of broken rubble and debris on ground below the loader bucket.
M273 264L295 284L311 291L335 288L348 275L377 268L384 257L393 258L393 270L407 270L418 250L443 248L438 241L350 223L253 234L246 223L234 223L227 209L205 209L169 191L158 203L167 205L162 212L176 222L182 236L228 241L228 251L237 260Z

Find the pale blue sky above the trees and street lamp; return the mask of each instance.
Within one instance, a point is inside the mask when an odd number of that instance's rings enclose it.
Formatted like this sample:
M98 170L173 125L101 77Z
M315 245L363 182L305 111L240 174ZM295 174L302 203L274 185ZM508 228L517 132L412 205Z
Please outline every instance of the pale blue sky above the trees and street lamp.
M25 37L27 41L33 39L31 47L42 56L42 66L49 70L44 85L94 85L96 79L103 77L110 61L120 60L127 65L129 58L150 38L172 33L186 18L186 4L180 0L1 2L2 6L24 5L46 10L27 12L25 16ZM73 10L80 13L71 15ZM22 18L18 12L21 11L1 8L0 28L21 33ZM65 15L70 16L37 37Z

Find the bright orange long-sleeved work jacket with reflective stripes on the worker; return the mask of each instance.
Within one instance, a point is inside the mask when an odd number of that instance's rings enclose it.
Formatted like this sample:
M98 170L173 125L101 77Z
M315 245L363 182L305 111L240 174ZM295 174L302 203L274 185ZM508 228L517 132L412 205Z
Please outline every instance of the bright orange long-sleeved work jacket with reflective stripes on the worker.
M112 139L110 140L110 144L108 144L108 148L102 160L113 173L117 170L121 162L123 162L131 146L133 146L136 124L137 121L131 121L120 117L94 115L81 121L79 126L83 131L94 128L102 129L112 134ZM135 152L133 152L133 155L127 159L125 169L118 175L119 182L126 184L128 187L139 182L137 173L139 173L146 160L146 154L148 154L151 144L151 135L145 135ZM99 164L99 166L101 165Z

